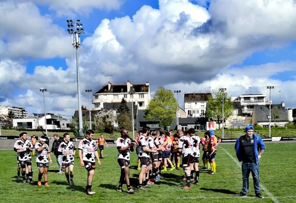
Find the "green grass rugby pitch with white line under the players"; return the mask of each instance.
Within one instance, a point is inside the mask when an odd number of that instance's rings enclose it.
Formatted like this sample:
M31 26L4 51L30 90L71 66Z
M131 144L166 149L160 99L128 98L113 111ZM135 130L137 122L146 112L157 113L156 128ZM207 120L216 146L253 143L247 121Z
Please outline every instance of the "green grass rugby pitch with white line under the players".
M48 183L50 187L23 184L16 179L16 153L11 150L0 151L0 202L1 203L294 203L296 202L295 157L296 143L266 143L266 150L260 160L261 194L265 199L255 198L252 179L247 198L238 198L242 187L240 163L235 157L234 145L219 145L216 157L217 174L200 174L199 185L192 185L190 190L181 189L180 176L183 170L163 173L163 178L146 191L137 191L130 195L116 191L120 169L117 164L115 147L105 148L105 159L97 167L92 190L93 196L85 194L86 170L79 166L76 152L74 165L75 186L67 186L64 174L58 172L55 157L49 168ZM290 150L289 150L290 149ZM291 150L292 149L292 150ZM131 185L138 183L136 170L137 157L131 156ZM34 181L37 181L37 166L33 157ZM126 185L123 186L126 190Z

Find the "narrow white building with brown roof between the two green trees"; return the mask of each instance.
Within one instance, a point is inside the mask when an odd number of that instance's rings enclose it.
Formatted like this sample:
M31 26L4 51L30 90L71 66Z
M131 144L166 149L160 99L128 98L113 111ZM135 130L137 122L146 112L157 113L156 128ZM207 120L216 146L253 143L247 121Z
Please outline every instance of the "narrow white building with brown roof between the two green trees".
M209 93L185 93L184 111L186 117L205 117L207 103L209 102L211 92Z

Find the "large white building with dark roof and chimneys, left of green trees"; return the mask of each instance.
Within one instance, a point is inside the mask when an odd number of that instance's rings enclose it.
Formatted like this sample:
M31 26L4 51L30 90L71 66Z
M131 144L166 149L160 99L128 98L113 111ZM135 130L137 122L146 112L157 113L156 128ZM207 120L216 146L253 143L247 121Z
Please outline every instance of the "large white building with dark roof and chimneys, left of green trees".
M130 94L130 92L134 92ZM123 85L108 85L103 86L99 91L93 95L92 103L94 108L92 110L104 109L104 103L120 103L122 98L127 102L134 102L138 105L139 110L145 110L150 101L150 87L149 83L145 84L131 84L128 80Z

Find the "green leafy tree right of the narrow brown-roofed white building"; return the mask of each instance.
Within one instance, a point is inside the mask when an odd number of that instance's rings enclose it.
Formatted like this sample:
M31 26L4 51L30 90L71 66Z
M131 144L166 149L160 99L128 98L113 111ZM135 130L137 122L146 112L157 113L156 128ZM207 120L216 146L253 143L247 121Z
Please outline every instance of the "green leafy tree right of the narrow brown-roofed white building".
M206 117L213 119L217 123L222 123L222 105L224 103L224 123L225 120L232 115L233 111L233 102L230 97L227 96L227 92L219 91L219 88L216 88L212 92L212 97L210 98L207 104Z

